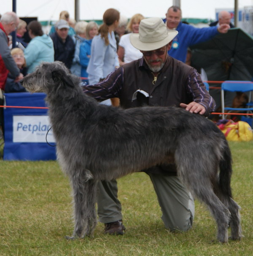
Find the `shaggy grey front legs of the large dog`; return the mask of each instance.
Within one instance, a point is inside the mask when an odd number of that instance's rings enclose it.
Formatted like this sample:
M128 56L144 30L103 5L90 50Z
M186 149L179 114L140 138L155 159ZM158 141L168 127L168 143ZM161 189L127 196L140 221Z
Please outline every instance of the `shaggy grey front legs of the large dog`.
M67 239L92 235L97 224L95 203L97 183L87 180L87 175L76 172L72 177L75 227L73 235Z

